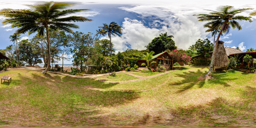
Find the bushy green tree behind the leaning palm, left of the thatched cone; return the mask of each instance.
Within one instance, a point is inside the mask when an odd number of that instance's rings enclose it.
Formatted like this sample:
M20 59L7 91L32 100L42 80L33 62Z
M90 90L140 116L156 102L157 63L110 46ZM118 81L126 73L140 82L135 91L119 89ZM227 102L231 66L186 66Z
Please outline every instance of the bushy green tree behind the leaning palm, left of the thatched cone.
M195 49L199 55L207 58L210 56L208 52L213 51L213 44L208 38L204 40L198 39L198 41L195 42Z

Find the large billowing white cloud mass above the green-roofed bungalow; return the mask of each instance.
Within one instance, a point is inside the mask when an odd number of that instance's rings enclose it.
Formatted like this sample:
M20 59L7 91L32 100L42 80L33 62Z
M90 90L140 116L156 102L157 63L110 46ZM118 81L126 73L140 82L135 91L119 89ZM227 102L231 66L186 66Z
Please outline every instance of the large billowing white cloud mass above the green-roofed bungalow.
M190 45L195 44L198 38L207 36L203 23L198 22L192 16L193 12L173 13L169 9L155 6L122 7L120 9L137 13L143 20L125 18L122 23L122 36L112 39L116 52L123 51L128 46L132 49L145 49L152 39L164 32L173 35L175 45L182 49L188 49Z

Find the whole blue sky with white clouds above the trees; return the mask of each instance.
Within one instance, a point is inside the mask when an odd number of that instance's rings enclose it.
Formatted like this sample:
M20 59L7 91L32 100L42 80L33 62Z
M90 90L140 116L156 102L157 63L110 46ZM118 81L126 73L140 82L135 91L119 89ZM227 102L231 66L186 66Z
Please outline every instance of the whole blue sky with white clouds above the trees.
M56 0L58 1L58 0ZM61 0L68 1L68 0ZM204 9L216 10L218 6L230 5L235 8L254 8L256 4L253 0L72 0L80 2L73 8L90 9L78 15L93 19L90 22L76 23L80 26L74 31L96 33L98 26L102 23L111 23L115 21L122 26L123 34L121 37L113 37L112 41L116 52L124 51L127 48L145 49L145 46L160 33L167 32L174 35L174 41L178 48L188 49L190 45L195 44L198 38L209 38L213 41L204 22L197 21L194 14L207 14L209 11ZM0 1L0 9L24 9L24 4L36 3L34 0L9 0L8 2ZM249 11L250 12L250 11ZM248 15L249 12L241 15ZM255 20L256 16L253 17ZM3 17L0 17L3 20ZM254 48L256 49L256 21L252 23L240 22L242 30L231 30L224 34L221 40L227 47L240 47L241 50ZM14 33L16 28L0 24L0 49L13 44L9 35ZM33 35L22 35L23 39L32 38ZM102 37L108 38L108 37ZM70 55L69 55L70 56ZM72 59L71 59L72 60ZM66 61L70 64L70 61Z

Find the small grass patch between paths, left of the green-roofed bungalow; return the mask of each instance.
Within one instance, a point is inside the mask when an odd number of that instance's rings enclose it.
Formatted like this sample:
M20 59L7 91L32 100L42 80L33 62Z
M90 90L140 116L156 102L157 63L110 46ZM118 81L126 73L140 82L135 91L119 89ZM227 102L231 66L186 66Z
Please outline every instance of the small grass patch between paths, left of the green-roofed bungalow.
M130 76L130 75L127 75L125 73L116 73L116 76L114 76L114 77L109 76L109 75L105 75L105 76L99 76L97 78L108 80L108 81L128 81L128 80L131 80L131 79L137 79L137 77Z

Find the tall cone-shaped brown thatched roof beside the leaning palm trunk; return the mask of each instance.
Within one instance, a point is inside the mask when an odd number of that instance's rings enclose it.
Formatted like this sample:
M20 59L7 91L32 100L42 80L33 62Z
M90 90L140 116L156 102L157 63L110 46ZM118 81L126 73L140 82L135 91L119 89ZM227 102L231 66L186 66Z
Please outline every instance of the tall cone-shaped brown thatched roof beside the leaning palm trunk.
M215 67L226 67L228 65L228 58L227 58L227 53L224 48L224 42L223 41L218 41L216 44L216 53L215 53L215 61L214 61L214 66Z

